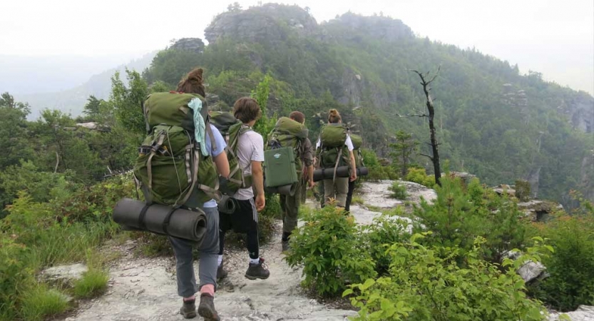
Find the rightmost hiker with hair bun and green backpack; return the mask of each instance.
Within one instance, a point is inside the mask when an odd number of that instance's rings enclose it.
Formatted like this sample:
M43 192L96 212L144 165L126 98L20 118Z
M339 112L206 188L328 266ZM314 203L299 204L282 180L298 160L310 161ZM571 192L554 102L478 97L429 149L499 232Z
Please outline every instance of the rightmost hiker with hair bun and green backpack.
M334 170L333 178L324 179L324 202L335 200L337 206L345 208L349 191L349 180L357 180L354 146L349 136L349 128L342 123L336 109L330 109L328 123L322 126L316 143L317 166ZM350 177L338 177L339 166L349 166Z

